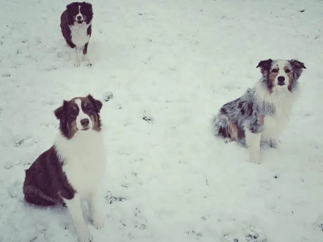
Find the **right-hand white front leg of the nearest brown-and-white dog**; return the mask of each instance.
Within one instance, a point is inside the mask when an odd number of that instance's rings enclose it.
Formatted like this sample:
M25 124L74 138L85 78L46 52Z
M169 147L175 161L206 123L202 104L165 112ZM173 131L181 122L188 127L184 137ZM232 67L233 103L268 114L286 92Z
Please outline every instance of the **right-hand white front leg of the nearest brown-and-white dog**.
M101 216L101 203L99 197L99 191L94 191L89 197L89 209L92 216L92 224L96 229L100 229L104 226L104 221Z

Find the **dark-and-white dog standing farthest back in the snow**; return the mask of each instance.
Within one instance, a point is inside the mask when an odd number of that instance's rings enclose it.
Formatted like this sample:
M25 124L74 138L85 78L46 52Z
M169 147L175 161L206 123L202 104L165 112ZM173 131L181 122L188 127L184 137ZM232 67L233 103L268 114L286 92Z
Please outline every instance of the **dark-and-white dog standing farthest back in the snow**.
M77 67L80 66L81 61L88 61L86 54L92 34L92 18L92 5L86 2L67 5L61 15L62 34L71 47L71 56Z

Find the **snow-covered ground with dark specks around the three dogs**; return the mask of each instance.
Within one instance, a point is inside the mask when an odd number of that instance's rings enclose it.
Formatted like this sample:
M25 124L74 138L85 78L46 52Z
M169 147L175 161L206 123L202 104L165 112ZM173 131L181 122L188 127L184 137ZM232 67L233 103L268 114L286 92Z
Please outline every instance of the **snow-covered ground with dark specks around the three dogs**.
M89 224L93 242L323 241L321 0L93 0L93 65L80 68L60 32L69 3L1 3L1 242L76 241L66 209L24 204L24 169L52 145L63 99L105 92L105 227ZM266 58L307 70L281 149L256 165L209 125Z

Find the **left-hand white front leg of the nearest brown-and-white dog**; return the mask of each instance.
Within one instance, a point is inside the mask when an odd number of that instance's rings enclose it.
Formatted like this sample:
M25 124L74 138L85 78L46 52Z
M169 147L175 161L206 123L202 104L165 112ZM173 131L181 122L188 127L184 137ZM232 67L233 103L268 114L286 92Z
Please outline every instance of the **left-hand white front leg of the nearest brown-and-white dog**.
M71 214L71 217L74 222L76 232L79 237L80 242L91 242L92 236L88 227L86 226L82 208L81 208L81 198L78 194L75 194L74 198L71 200L64 199L64 202Z

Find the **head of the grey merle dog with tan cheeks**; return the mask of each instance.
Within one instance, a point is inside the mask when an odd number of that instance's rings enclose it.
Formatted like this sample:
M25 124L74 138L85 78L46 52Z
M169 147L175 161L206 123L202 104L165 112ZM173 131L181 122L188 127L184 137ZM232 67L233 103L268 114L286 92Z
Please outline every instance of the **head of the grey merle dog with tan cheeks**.
M256 68L258 67L263 77L262 80L270 93L273 88L287 88L292 92L303 69L306 69L304 63L296 59L266 59L260 61Z

